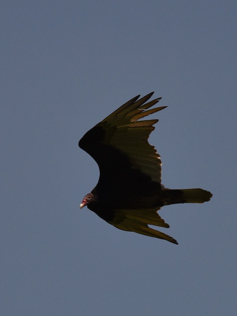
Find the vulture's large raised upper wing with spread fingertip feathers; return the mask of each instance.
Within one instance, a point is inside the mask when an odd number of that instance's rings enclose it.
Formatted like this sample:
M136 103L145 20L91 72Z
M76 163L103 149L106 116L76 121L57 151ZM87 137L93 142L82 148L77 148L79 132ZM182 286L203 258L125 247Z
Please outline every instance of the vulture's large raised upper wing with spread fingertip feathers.
M98 185L101 182L111 182L112 179L117 181L117 186L118 182L123 180L131 189L135 182L140 181L145 185L145 178L161 183L160 155L154 146L148 143L149 134L155 128L152 125L157 123L158 119L139 121L166 108L162 106L147 110L161 99L145 103L153 93L140 100L138 95L126 102L95 125L79 141L79 147L91 155L99 166ZM131 170L138 171L136 176L129 172Z

